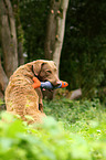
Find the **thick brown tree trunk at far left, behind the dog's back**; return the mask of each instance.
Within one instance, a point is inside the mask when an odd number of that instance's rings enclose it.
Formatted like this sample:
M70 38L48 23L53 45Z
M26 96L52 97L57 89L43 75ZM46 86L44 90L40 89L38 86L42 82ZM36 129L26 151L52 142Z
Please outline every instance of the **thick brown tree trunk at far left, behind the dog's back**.
M10 0L0 0L3 65L8 77L18 67L15 21Z

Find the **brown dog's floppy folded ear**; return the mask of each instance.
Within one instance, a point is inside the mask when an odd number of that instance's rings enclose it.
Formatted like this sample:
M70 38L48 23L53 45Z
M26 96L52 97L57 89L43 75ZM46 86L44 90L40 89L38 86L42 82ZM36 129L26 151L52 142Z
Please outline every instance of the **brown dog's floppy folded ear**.
M43 61L36 61L33 63L33 72L36 76L39 76L41 70L42 70L42 66L46 64L46 62L43 62Z

